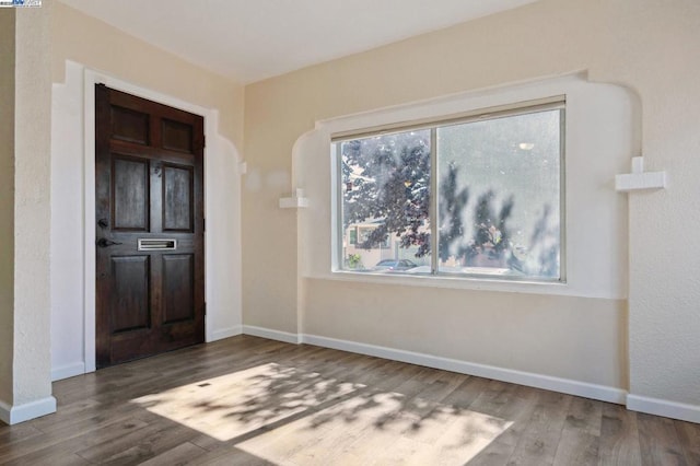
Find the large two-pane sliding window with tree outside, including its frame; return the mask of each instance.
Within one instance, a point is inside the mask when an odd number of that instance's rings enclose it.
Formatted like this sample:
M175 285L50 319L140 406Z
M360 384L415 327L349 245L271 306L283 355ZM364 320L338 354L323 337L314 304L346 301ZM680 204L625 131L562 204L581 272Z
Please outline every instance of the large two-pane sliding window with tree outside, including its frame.
M345 270L563 281L564 104L334 139Z

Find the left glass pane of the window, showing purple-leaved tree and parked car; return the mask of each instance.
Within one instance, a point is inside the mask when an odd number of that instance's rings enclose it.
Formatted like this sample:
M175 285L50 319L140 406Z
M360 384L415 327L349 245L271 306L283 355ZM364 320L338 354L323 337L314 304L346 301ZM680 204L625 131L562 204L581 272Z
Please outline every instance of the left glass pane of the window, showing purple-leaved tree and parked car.
M354 244L342 243L347 268L411 268L400 259L430 268L430 130L419 130L339 143L342 229L357 230Z

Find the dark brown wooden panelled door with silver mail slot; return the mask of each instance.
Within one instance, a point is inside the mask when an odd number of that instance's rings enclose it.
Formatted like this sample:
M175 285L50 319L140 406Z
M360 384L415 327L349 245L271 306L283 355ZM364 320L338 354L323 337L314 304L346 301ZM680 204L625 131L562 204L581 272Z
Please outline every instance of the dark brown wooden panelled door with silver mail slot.
M203 118L95 86L96 362L205 340Z

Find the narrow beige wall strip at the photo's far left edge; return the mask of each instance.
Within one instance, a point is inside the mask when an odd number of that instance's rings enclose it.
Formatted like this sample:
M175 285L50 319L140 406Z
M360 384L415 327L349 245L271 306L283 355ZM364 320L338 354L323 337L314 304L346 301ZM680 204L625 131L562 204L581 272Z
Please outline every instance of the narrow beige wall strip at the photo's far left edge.
M0 401L7 405L14 341L14 16L0 9Z

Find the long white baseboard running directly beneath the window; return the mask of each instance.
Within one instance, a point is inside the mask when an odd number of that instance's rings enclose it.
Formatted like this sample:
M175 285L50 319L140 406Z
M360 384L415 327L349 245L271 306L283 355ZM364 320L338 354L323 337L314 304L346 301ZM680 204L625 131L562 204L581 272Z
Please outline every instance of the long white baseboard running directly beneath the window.
M623 389L605 385L590 384L586 382L552 377L549 375L535 374L530 372L514 371L512 369L477 364L472 362L459 361L456 359L440 358L436 356L423 354L412 351L404 351L374 345L359 343L355 341L338 340L335 338L318 337L315 335L304 335L302 341L319 347L334 348L342 351L350 351L360 354L390 359L394 361L408 362L411 364L424 365L427 368L442 369L460 374L493 378L497 381L510 382L518 385L526 385L552 392L565 393L569 395L582 396L585 398L598 399L600 401L615 403L618 405L625 405L627 395L627 392L625 392Z

